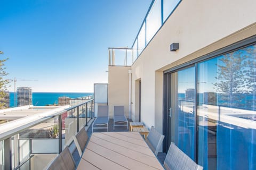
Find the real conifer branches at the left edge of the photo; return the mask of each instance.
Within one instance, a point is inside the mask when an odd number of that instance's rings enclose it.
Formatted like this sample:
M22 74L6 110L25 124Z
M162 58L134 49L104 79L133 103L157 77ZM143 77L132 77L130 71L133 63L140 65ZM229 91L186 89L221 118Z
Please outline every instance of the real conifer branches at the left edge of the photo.
M2 51L0 51L0 55L2 56L2 54L4 54ZM4 79L4 77L6 75L8 75L8 73L5 71L6 67L4 65L4 62L8 60L8 58L1 60L0 59L0 109L4 108L5 106L5 96L6 93L5 91L7 90L7 88L9 87L9 79Z

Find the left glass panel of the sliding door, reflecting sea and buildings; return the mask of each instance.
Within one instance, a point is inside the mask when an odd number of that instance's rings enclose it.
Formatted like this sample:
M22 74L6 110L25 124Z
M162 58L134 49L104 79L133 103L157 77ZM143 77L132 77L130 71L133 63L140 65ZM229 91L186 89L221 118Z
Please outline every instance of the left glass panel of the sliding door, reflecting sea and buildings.
M174 142L195 160L195 67L167 74L167 148Z

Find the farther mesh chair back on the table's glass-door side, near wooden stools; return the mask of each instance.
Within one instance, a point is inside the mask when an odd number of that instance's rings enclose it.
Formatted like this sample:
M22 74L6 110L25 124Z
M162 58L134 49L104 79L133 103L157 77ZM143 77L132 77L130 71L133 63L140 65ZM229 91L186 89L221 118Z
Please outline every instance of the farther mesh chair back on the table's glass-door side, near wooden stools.
M154 154L157 156L159 149L162 145L162 142L164 140L164 135L157 132L155 128L151 127L148 137L146 139L146 142L149 146L149 148L154 152Z

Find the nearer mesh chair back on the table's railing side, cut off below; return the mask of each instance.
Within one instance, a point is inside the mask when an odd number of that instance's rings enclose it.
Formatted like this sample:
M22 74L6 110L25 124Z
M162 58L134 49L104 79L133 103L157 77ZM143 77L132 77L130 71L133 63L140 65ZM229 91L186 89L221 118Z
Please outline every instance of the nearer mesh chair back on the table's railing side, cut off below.
M66 147L59 156L57 156L53 162L47 167L48 170L73 170L75 169L74 159Z

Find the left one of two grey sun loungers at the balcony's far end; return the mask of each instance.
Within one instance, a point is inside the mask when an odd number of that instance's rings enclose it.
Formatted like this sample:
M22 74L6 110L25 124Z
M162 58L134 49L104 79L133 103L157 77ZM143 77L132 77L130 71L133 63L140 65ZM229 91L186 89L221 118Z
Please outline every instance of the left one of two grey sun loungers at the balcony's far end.
M98 106L98 116L92 124L92 133L93 133L93 129L107 129L108 131L108 121L109 121L108 106ZM107 127L99 128L99 127L94 127L94 125L97 125L97 126L107 125Z

